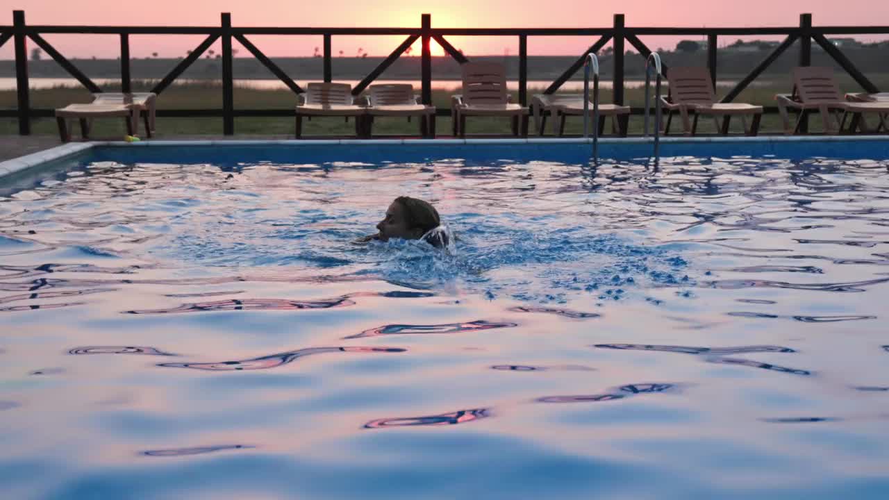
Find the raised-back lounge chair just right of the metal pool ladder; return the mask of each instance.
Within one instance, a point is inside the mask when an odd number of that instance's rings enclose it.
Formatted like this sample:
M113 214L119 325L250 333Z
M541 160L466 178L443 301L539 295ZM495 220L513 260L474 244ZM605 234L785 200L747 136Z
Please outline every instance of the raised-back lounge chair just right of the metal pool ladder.
M732 117L741 117L744 133L757 135L759 123L763 117L763 107L742 102L717 102L713 82L710 80L709 69L701 67L671 67L667 73L669 84L669 97L661 97L661 104L667 111L667 123L664 133L669 133L673 114L679 113L682 118L682 129L685 135L693 135L698 132L698 117L709 115L717 126L719 133L728 134L728 126ZM694 120L689 120L689 113L694 114ZM722 117L722 124L719 123ZM747 117L752 117L752 123L747 126Z

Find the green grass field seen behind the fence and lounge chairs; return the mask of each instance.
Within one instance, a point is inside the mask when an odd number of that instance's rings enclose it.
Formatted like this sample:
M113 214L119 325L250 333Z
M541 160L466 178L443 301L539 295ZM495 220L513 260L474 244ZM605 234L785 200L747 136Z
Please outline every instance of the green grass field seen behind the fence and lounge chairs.
M845 75L837 75L841 88L846 92L861 92L858 85L855 85L851 77ZM889 75L871 76L871 80L875 85L886 88L889 87ZM134 82L133 90L136 92L145 91L150 88L148 82ZM457 85L455 84L455 87ZM114 89L110 89L114 90ZM748 87L735 100L736 102L749 102L760 104L763 106L774 106L775 93L788 93L790 90L789 83L787 87L778 86L762 86ZM433 104L437 108L449 108L451 94L459 92L456 88L452 90L434 90L432 93ZM533 93L542 93L542 88L528 89L529 96ZM666 89L665 89L666 92ZM717 95L725 95L728 89L720 87L717 89ZM419 90L418 90L419 93ZM235 109L292 109L296 105L296 96L289 90L260 90L247 87L235 88ZM75 87L56 87L51 89L32 90L31 107L35 109L55 109L63 107L73 102L89 102L90 94L84 88ZM518 101L517 93L513 95L514 101ZM610 102L612 100L612 92L603 90L601 93L601 101ZM642 89L627 89L625 91L625 101L633 107L642 107L645 102L645 93ZM16 107L15 91L0 91L0 109L15 109ZM186 85L172 85L164 93L158 97L158 109L221 109L222 108L222 90L221 86L216 83L189 83ZM679 130L679 126L674 120L673 131ZM633 133L642 133L643 117L634 116L629 121L629 131ZM552 133L551 124L547 124L547 135ZM292 117L239 117L235 119L235 132L238 135L275 135L288 136L293 133ZM451 134L451 118L438 117L436 129L439 135ZM567 134L582 133L583 125L581 117L569 118L565 127ZM354 125L348 123L341 117L313 118L310 122L303 124L304 137L323 137L323 136L348 136L354 133ZM485 118L471 117L469 118L467 130L469 134L510 134L510 126L508 118ZM818 132L821 130L821 120L815 117L812 120L811 130ZM529 125L529 133L534 134L533 120ZM716 127L713 120L701 119L699 124L700 133L715 133ZM733 120L733 133L741 133L741 121ZM768 114L763 117L761 127L762 133L780 133L781 122L776 114ZM18 124L15 118L0 118L0 134L18 133ZM56 134L58 133L54 118L36 118L32 122L32 133L35 134ZM419 124L416 120L408 123L405 118L376 118L374 120L373 133L380 135L413 135L419 133ZM222 134L222 119L220 117L202 117L202 118L180 118L180 117L159 117L157 118L157 136L174 139L179 136L188 135L220 135ZM121 120L103 119L97 120L93 125L93 137L96 138L122 138L124 136L124 125Z

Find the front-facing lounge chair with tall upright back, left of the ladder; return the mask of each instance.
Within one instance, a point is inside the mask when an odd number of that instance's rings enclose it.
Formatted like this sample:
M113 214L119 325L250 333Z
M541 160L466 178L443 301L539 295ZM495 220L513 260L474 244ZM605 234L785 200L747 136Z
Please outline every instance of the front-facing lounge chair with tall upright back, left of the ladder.
M528 135L528 109L509 102L506 69L496 62L466 62L461 66L463 93L453 95L454 135L466 137L466 117L511 117L512 133Z

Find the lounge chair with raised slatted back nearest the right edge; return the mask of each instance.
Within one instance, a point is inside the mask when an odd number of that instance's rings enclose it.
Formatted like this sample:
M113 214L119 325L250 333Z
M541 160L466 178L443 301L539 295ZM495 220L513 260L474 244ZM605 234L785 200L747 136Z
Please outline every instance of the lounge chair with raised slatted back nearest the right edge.
M844 101L843 94L840 93L837 81L833 77L833 69L815 66L795 68L793 82L793 93L775 95L781 121L784 124L784 133L799 133L803 117L813 110L821 113L824 133L842 132L845 120L850 115L852 120L849 132L854 132L858 128L861 128L862 132L869 132L864 120L865 113L877 114L880 120L877 130L886 127L885 115L889 113L889 102L877 99L863 102ZM789 109L795 109L799 113L797 123L792 126ZM842 119L839 112L843 113Z

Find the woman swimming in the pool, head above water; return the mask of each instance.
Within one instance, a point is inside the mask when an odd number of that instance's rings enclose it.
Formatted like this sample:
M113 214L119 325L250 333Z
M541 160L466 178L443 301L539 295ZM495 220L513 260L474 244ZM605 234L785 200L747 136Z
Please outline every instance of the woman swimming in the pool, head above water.
M448 236L441 225L436 207L418 198L395 198L386 210L386 216L377 224L377 234L359 238L359 242L389 238L423 239L429 245L443 248Z

